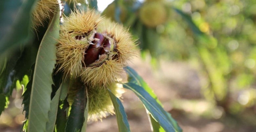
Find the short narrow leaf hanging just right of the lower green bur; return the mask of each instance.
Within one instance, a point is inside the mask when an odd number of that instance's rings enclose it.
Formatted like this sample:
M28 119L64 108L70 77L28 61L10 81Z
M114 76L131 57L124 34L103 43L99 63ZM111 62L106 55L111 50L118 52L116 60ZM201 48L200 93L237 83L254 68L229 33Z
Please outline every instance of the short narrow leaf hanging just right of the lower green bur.
M130 132L130 125L128 123L127 115L124 111L124 107L121 101L109 89L108 93L111 97L111 101L115 109L119 132Z

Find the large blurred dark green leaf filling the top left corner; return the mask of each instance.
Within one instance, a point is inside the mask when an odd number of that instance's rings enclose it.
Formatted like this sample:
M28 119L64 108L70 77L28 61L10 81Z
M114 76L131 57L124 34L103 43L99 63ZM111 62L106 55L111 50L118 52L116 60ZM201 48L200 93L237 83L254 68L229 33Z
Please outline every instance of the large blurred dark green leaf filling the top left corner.
M31 38L31 12L36 2L37 0L1 0L0 54Z

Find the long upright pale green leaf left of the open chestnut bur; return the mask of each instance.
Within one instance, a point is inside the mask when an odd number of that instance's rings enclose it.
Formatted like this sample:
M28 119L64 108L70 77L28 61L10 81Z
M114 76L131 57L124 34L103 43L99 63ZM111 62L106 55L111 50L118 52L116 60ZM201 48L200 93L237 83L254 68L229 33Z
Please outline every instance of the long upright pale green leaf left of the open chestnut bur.
M57 7L58 8L58 7ZM29 107L28 131L46 131L52 93L52 74L56 63L56 39L59 37L59 12L53 16L38 49Z

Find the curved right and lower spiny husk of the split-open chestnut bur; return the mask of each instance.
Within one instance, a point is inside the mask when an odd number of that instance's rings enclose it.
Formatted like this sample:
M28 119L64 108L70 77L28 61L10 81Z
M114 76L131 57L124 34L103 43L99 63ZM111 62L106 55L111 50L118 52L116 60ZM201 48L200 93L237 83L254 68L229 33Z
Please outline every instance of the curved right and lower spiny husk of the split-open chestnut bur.
M122 25L111 22L109 19L104 19L97 26L97 32L115 40L115 55L118 57L114 60L105 60L100 66L83 68L82 80L93 87L115 83L123 72L123 67L127 66L127 62L135 56L136 52L135 41Z

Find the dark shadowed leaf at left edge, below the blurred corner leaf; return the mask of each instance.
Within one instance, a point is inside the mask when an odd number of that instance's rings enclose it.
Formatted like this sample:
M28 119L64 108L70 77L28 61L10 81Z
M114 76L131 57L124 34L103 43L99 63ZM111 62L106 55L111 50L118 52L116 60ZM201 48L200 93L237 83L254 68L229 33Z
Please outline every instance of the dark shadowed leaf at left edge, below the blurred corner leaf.
M33 43L32 41L31 43ZM5 56L0 74L0 93L9 96L17 80L22 80L24 75L31 74L31 66L35 63L38 46L27 45L24 48L14 50L12 54Z

